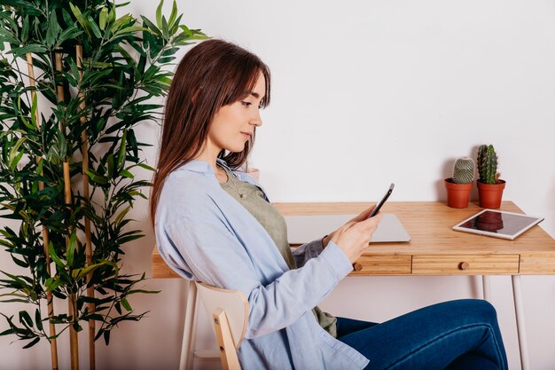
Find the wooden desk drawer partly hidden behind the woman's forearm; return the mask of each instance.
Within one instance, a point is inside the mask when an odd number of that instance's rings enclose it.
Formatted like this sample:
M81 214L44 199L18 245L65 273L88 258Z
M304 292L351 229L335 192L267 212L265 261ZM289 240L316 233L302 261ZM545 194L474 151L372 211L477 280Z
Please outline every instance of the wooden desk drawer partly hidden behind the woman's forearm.
M411 256L361 256L351 275L410 275Z

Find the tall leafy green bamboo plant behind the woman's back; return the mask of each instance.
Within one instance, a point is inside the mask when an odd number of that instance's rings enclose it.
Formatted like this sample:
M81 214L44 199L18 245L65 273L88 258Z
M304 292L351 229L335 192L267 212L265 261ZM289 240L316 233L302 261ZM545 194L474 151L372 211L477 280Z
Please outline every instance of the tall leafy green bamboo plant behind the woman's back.
M175 2L169 18L160 2L156 20L118 17L124 5L0 0L0 216L19 225L0 229L17 270L1 272L0 300L27 303L0 312L0 335L24 348L47 340L52 369L64 331L76 369L87 323L94 369L94 342L145 315L129 303L152 293L138 287L145 273L120 272L123 247L143 236L127 216L150 185L137 170L152 170L135 129L160 120L152 99L167 93L176 51L206 38Z

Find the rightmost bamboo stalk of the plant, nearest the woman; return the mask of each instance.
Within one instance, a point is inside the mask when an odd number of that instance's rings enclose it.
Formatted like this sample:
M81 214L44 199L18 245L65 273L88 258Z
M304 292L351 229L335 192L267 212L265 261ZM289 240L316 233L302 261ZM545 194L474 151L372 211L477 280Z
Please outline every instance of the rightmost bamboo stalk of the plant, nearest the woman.
M85 110L85 93L81 89L82 81L82 45L77 45L75 47L75 54L77 59L77 68L79 69L79 98L81 98L80 108L82 111ZM87 118L83 115L81 117L81 124L84 126L87 123ZM81 154L82 154L82 196L85 200L90 201L89 197L89 177L86 172L89 170L89 142L87 138L87 130L83 128L81 133ZM85 258L87 266L92 264L92 240L90 238L90 219L85 216ZM92 273L87 275L87 285L90 285L90 279L92 279ZM94 287L87 287L87 296L94 298L95 290ZM94 312L96 310L95 303L88 303L89 312ZM90 370L95 370L96 367L96 357L95 357L95 320L89 320L89 368Z

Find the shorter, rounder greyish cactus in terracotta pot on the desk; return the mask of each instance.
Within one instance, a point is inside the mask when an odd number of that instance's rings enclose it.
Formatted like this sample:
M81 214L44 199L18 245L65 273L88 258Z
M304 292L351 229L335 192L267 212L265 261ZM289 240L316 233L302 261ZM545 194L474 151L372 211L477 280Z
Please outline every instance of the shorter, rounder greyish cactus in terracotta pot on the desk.
M458 158L453 165L453 177L443 180L447 189L447 205L454 209L468 207L473 188L474 161L470 157Z

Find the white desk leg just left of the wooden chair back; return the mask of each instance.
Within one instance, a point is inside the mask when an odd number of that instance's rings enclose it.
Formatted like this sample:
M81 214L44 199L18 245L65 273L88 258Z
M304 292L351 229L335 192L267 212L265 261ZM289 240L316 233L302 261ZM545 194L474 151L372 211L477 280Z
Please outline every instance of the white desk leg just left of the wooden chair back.
M194 335L196 330L197 286L191 280L184 279L187 289L187 302L185 303L183 342L181 343L181 358L179 370L192 370L194 357Z

